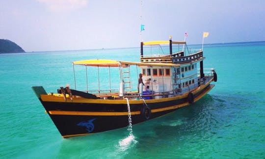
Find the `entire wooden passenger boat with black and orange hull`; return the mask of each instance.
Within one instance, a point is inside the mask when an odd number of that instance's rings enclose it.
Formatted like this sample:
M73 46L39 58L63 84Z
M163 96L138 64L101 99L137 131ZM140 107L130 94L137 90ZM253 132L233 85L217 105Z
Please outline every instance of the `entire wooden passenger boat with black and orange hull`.
M153 53L153 49L144 54L144 50L156 46L169 53ZM180 50L182 46L185 48ZM86 72L84 91L76 90L76 77L75 89L61 87L57 93L49 94L42 86L32 89L62 137L110 131L127 127L129 113L132 124L137 124L201 99L214 87L211 82L217 81L214 69L203 68L204 58L202 50L191 53L185 41L141 42L140 62L74 61L74 76L79 65L86 71L95 71ZM136 80L132 78L132 67L136 70ZM100 68L107 70L108 78L101 79L104 88L100 83ZM118 75L113 76L113 72ZM143 84L138 82L138 73L142 74ZM88 83L92 74L98 75L98 79ZM116 78L115 84L112 78Z

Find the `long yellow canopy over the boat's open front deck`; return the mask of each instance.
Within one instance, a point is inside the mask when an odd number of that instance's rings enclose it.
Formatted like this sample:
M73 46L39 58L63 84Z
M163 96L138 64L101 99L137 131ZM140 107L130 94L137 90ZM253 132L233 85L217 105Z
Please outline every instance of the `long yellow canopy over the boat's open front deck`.
M84 65L84 66L99 66L99 67L127 67L129 65L137 66L167 66L167 67L179 67L179 64L172 63L141 63L141 62L129 62L129 61L116 61L107 59L91 59L91 60L81 60L74 61L74 65Z

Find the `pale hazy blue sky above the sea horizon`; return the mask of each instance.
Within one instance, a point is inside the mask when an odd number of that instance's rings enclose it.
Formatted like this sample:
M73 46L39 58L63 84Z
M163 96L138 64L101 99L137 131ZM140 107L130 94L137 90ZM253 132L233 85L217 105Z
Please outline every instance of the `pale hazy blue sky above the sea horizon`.
M0 0L0 39L26 52L140 47L185 32L201 44L204 31L205 44L265 41L265 0Z

